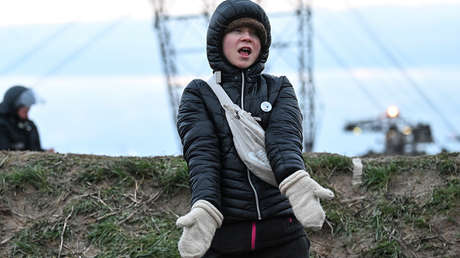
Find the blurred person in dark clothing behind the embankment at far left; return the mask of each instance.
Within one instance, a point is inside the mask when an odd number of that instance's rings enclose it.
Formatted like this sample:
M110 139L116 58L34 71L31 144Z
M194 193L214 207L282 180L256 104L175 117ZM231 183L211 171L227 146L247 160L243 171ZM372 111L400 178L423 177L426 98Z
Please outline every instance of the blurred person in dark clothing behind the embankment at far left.
M13 86L6 91L0 103L0 150L45 151L37 127L29 119L35 101L33 91L26 87Z

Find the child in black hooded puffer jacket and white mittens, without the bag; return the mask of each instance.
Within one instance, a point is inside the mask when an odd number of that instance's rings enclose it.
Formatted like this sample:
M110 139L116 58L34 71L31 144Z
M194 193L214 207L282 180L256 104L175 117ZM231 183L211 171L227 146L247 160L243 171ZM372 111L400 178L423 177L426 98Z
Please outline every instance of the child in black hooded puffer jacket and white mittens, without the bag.
M192 208L176 224L182 257L309 257L304 227L320 228L319 198L332 198L305 171L302 115L284 76L262 74L271 44L264 10L249 0L223 1L211 17L207 57L236 105L259 118L278 186L253 174L238 156L225 111L203 80L184 89L177 129Z

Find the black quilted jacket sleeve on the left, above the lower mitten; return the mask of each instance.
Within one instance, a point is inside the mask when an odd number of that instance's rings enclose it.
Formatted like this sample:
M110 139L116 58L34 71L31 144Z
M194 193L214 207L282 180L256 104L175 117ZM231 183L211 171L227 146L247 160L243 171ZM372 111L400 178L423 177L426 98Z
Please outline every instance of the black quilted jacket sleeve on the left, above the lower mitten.
M221 210L219 139L200 91L204 86L202 81L194 80L185 88L177 130L189 169L192 204L206 200Z

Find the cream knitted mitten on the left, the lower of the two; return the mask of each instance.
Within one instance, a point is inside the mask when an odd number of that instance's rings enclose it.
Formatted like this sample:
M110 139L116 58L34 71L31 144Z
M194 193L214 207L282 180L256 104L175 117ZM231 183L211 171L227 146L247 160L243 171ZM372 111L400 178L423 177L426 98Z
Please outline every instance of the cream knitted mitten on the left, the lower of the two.
M178 244L181 257L202 257L211 246L214 233L223 219L224 216L208 201L195 202L190 212L176 221L176 225L184 229Z

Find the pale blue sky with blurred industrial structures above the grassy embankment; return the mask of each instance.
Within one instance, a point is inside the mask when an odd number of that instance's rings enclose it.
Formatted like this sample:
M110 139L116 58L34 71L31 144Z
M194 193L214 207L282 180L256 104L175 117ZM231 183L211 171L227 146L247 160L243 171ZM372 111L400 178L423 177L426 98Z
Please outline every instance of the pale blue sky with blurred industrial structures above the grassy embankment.
M44 148L180 155L177 103L211 74L220 2L1 1L0 95L34 89ZM305 150L460 151L460 0L255 2L272 25L265 72L295 85Z

